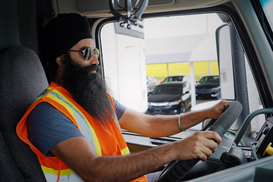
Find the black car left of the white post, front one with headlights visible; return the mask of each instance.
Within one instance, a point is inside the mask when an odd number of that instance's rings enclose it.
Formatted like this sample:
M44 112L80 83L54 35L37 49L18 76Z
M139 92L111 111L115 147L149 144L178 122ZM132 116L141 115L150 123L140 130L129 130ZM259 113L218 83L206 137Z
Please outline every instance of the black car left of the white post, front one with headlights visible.
M185 82L163 82L148 97L149 114L179 114L191 107L191 94Z

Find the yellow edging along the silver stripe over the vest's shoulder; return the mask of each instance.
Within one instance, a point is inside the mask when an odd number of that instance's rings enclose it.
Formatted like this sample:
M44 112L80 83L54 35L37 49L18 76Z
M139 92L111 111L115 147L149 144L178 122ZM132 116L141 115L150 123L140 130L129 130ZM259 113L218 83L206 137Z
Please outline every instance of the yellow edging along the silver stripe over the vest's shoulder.
M68 100L64 95L62 95L62 93L60 93L58 90L56 89L53 89L52 90L53 92L57 93L58 95L60 95L66 102L68 102L69 104L71 104L84 118L85 120L87 121L87 125L89 126L90 128L90 131L92 133L92 136L93 136L93 139L94 139L94 144L95 144L95 147L96 147L96 151L97 151L97 155L98 156L102 156L102 153L101 153L101 148L100 148L100 143L98 142L98 138L97 138L97 135L95 133L95 130L93 129L93 127L90 125L90 123L88 122L87 118L85 117L85 115L80 111L80 109L78 109L70 100ZM49 95L48 95L49 96ZM55 96L53 96L54 98L56 98ZM56 98L58 99L58 98ZM55 99L53 99L55 100ZM60 100L60 99L58 99ZM57 100L55 100L57 101ZM57 101L58 102L58 101ZM64 103L63 101L61 101L62 103ZM58 102L61 104L61 102ZM64 103L65 104L65 103ZM63 105L63 104L62 104ZM69 107L67 106L67 104L63 105L65 108ZM74 113L73 113L73 109L71 107L69 107L70 109L67 109L69 111L69 113L73 114L73 118L75 118L74 116Z

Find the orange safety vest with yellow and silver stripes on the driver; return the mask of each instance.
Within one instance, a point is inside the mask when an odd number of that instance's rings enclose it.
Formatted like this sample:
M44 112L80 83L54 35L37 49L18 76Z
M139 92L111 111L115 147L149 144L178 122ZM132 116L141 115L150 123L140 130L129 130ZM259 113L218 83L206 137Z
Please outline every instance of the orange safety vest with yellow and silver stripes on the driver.
M109 95L108 95L109 96ZM115 111L114 101L111 96L109 99ZM82 179L58 157L46 157L40 152L28 139L28 116L32 109L40 102L48 102L64 113L80 130L85 138L91 143L98 156L127 155L130 151L122 136L121 128L116 115L111 116L109 113L109 124L107 128L93 118L85 109L77 104L72 95L63 87L51 82L35 102L26 111L17 125L16 132L21 140L27 143L30 148L37 154L42 171L46 181L82 181ZM115 111L116 112L116 111ZM141 176L134 182L147 182L146 175Z

